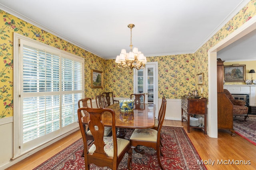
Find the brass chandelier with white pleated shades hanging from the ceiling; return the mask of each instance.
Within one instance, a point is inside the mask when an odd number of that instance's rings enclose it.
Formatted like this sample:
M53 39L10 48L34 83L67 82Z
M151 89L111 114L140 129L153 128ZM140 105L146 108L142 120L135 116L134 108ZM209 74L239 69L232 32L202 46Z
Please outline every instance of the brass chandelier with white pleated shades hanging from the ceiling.
M116 56L115 62L118 64L118 68L136 68L137 70L140 70L143 69L147 63L146 57L141 51L138 51L138 48L134 47L132 49L132 28L134 26L135 25L132 23L128 24L128 28L130 28L131 31L130 52L126 53L126 50L122 49L120 55Z

